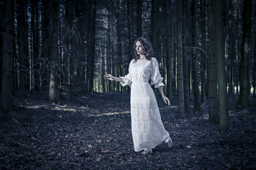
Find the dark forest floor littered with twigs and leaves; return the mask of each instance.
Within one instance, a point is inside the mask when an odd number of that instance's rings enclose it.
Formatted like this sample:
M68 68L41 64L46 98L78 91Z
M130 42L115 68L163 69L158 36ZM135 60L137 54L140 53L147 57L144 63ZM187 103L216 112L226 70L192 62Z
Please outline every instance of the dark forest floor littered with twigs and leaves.
M0 113L0 169L256 169L255 103L248 111L229 105L230 131L202 112L176 119L158 101L173 147L147 156L133 150L130 95L82 95L53 104L41 93L14 96L13 111Z

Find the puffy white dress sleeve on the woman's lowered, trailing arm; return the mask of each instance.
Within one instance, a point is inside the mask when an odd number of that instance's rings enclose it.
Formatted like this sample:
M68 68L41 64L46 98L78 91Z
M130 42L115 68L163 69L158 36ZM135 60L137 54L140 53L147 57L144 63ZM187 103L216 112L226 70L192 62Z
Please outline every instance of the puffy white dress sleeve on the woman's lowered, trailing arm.
M156 58L151 58L151 86L155 85L155 88L164 86L164 83L162 82L164 78L161 77L161 74L159 72L159 64L156 60Z

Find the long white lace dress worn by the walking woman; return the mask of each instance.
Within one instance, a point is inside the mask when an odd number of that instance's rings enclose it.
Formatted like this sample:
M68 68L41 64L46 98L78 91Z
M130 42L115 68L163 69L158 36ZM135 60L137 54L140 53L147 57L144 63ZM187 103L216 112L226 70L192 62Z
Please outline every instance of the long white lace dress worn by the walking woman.
M169 133L164 129L156 97L151 85L155 88L164 86L159 73L156 58L142 59L129 65L129 73L121 77L122 86L131 87L131 121L132 138L135 151L151 149L158 146ZM149 80L150 84L149 84Z

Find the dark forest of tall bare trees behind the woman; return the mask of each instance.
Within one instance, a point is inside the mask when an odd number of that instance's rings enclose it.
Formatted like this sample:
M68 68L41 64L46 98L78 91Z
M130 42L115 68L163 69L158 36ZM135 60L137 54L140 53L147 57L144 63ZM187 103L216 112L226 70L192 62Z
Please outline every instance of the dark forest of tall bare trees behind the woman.
M146 37L177 117L209 102L209 121L227 131L228 103L255 101L255 10L254 0L1 0L2 112L28 91L53 102L129 92L103 75L127 74L134 40Z

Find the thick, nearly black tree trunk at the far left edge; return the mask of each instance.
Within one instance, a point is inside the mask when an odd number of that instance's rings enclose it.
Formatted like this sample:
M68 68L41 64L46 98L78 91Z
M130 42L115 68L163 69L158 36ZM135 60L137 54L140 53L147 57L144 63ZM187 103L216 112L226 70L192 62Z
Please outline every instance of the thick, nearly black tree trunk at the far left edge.
M4 24L3 24L3 67L2 67L2 90L1 108L4 112L12 109L13 91L13 28L14 28L14 2L4 1Z

